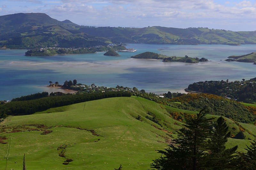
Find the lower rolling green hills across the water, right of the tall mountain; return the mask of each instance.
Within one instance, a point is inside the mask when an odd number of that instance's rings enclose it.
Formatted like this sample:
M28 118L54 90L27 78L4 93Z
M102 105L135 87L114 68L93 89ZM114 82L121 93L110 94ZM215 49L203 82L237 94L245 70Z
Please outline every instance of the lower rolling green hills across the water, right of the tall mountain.
M256 32L233 32L208 28L167 28L152 26L145 28L100 27L80 28L81 32L106 37L115 43L148 43L148 44L255 44Z

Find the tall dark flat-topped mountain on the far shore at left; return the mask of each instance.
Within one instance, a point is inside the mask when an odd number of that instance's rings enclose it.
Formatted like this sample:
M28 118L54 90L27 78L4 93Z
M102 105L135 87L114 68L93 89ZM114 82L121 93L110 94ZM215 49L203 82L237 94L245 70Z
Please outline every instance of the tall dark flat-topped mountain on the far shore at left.
M58 21L44 13L0 16L0 47L90 47L107 45L105 39L78 31L79 25ZM108 39L107 39L108 40Z

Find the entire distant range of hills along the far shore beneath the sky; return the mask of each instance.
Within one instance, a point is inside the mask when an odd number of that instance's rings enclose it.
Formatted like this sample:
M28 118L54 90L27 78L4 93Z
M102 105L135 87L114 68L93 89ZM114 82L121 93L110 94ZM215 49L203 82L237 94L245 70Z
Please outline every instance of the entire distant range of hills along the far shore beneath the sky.
M110 43L148 44L256 44L256 31L233 32L208 28L145 28L80 26L44 13L0 16L0 47L90 47Z

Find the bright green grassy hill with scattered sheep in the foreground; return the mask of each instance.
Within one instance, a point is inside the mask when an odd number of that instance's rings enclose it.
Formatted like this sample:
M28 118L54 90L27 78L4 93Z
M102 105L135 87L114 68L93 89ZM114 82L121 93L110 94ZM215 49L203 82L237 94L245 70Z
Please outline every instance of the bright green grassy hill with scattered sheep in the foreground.
M148 169L152 159L160 156L155 150L165 148L164 142L176 137L182 125L169 116L171 111L186 110L133 96L8 117L0 123L0 137L7 143L0 144L0 169L21 169L24 153L27 169L112 170L119 164L124 170ZM156 117L158 124L146 116ZM227 121L230 127L236 126ZM234 143L243 150L248 140L231 139L228 147ZM73 161L63 165L66 159Z

